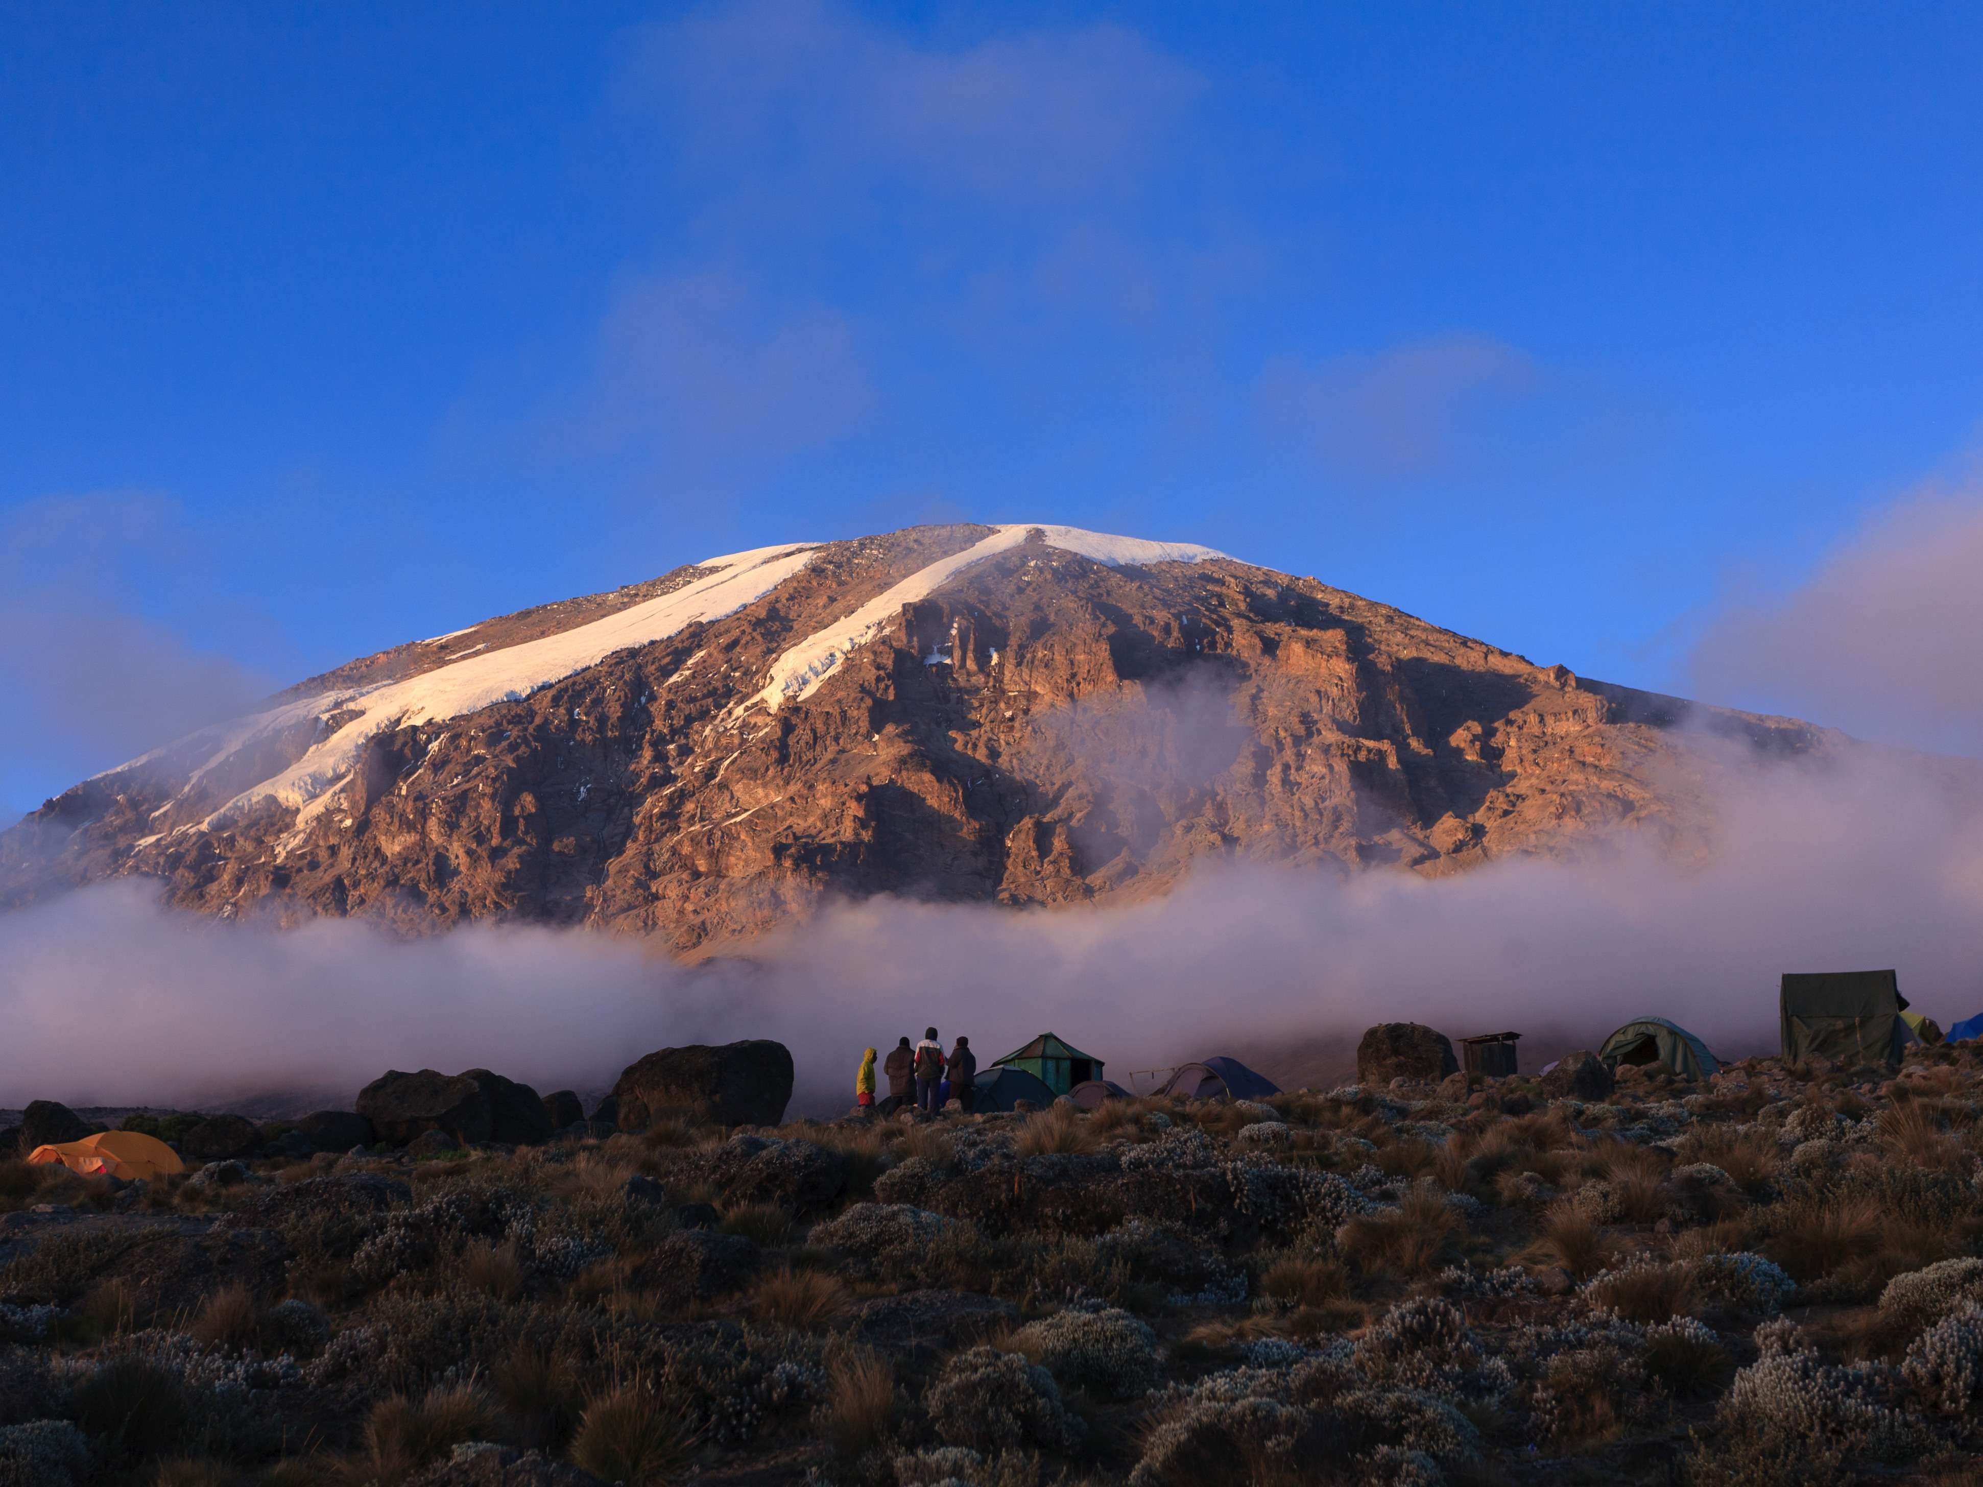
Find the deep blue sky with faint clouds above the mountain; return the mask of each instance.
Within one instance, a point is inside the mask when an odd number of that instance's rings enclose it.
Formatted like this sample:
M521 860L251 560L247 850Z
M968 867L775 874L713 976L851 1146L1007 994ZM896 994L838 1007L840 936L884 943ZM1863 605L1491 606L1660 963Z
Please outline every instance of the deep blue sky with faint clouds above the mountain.
M952 517L1975 751L1977 75L1935 4L14 8L0 817Z

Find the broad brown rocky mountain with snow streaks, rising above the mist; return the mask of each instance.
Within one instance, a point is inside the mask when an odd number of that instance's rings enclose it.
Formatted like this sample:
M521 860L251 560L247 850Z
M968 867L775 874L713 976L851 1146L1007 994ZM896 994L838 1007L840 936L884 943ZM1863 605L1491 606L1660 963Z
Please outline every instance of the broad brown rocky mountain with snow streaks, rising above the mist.
M1691 716L1690 716L1691 714ZM1214 858L1695 851L1803 724L1586 682L1315 579L1065 527L759 549L371 656L75 785L0 902L520 918L708 950L825 894L1077 904Z

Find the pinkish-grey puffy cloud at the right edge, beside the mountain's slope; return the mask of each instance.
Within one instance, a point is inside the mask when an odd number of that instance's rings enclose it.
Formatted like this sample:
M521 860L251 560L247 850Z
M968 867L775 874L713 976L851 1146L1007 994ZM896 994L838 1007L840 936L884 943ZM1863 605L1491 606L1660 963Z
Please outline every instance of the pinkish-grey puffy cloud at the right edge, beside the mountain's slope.
M1705 698L1983 755L1983 494L1927 490L1783 593L1735 593L1691 658Z

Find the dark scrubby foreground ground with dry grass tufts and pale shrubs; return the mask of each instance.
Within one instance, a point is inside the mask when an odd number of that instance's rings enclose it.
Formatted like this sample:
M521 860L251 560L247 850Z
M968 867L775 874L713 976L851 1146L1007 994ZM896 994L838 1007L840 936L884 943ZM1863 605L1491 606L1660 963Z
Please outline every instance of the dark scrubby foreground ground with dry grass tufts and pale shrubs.
M1606 1085L6 1162L0 1483L1973 1481L1983 1061Z

